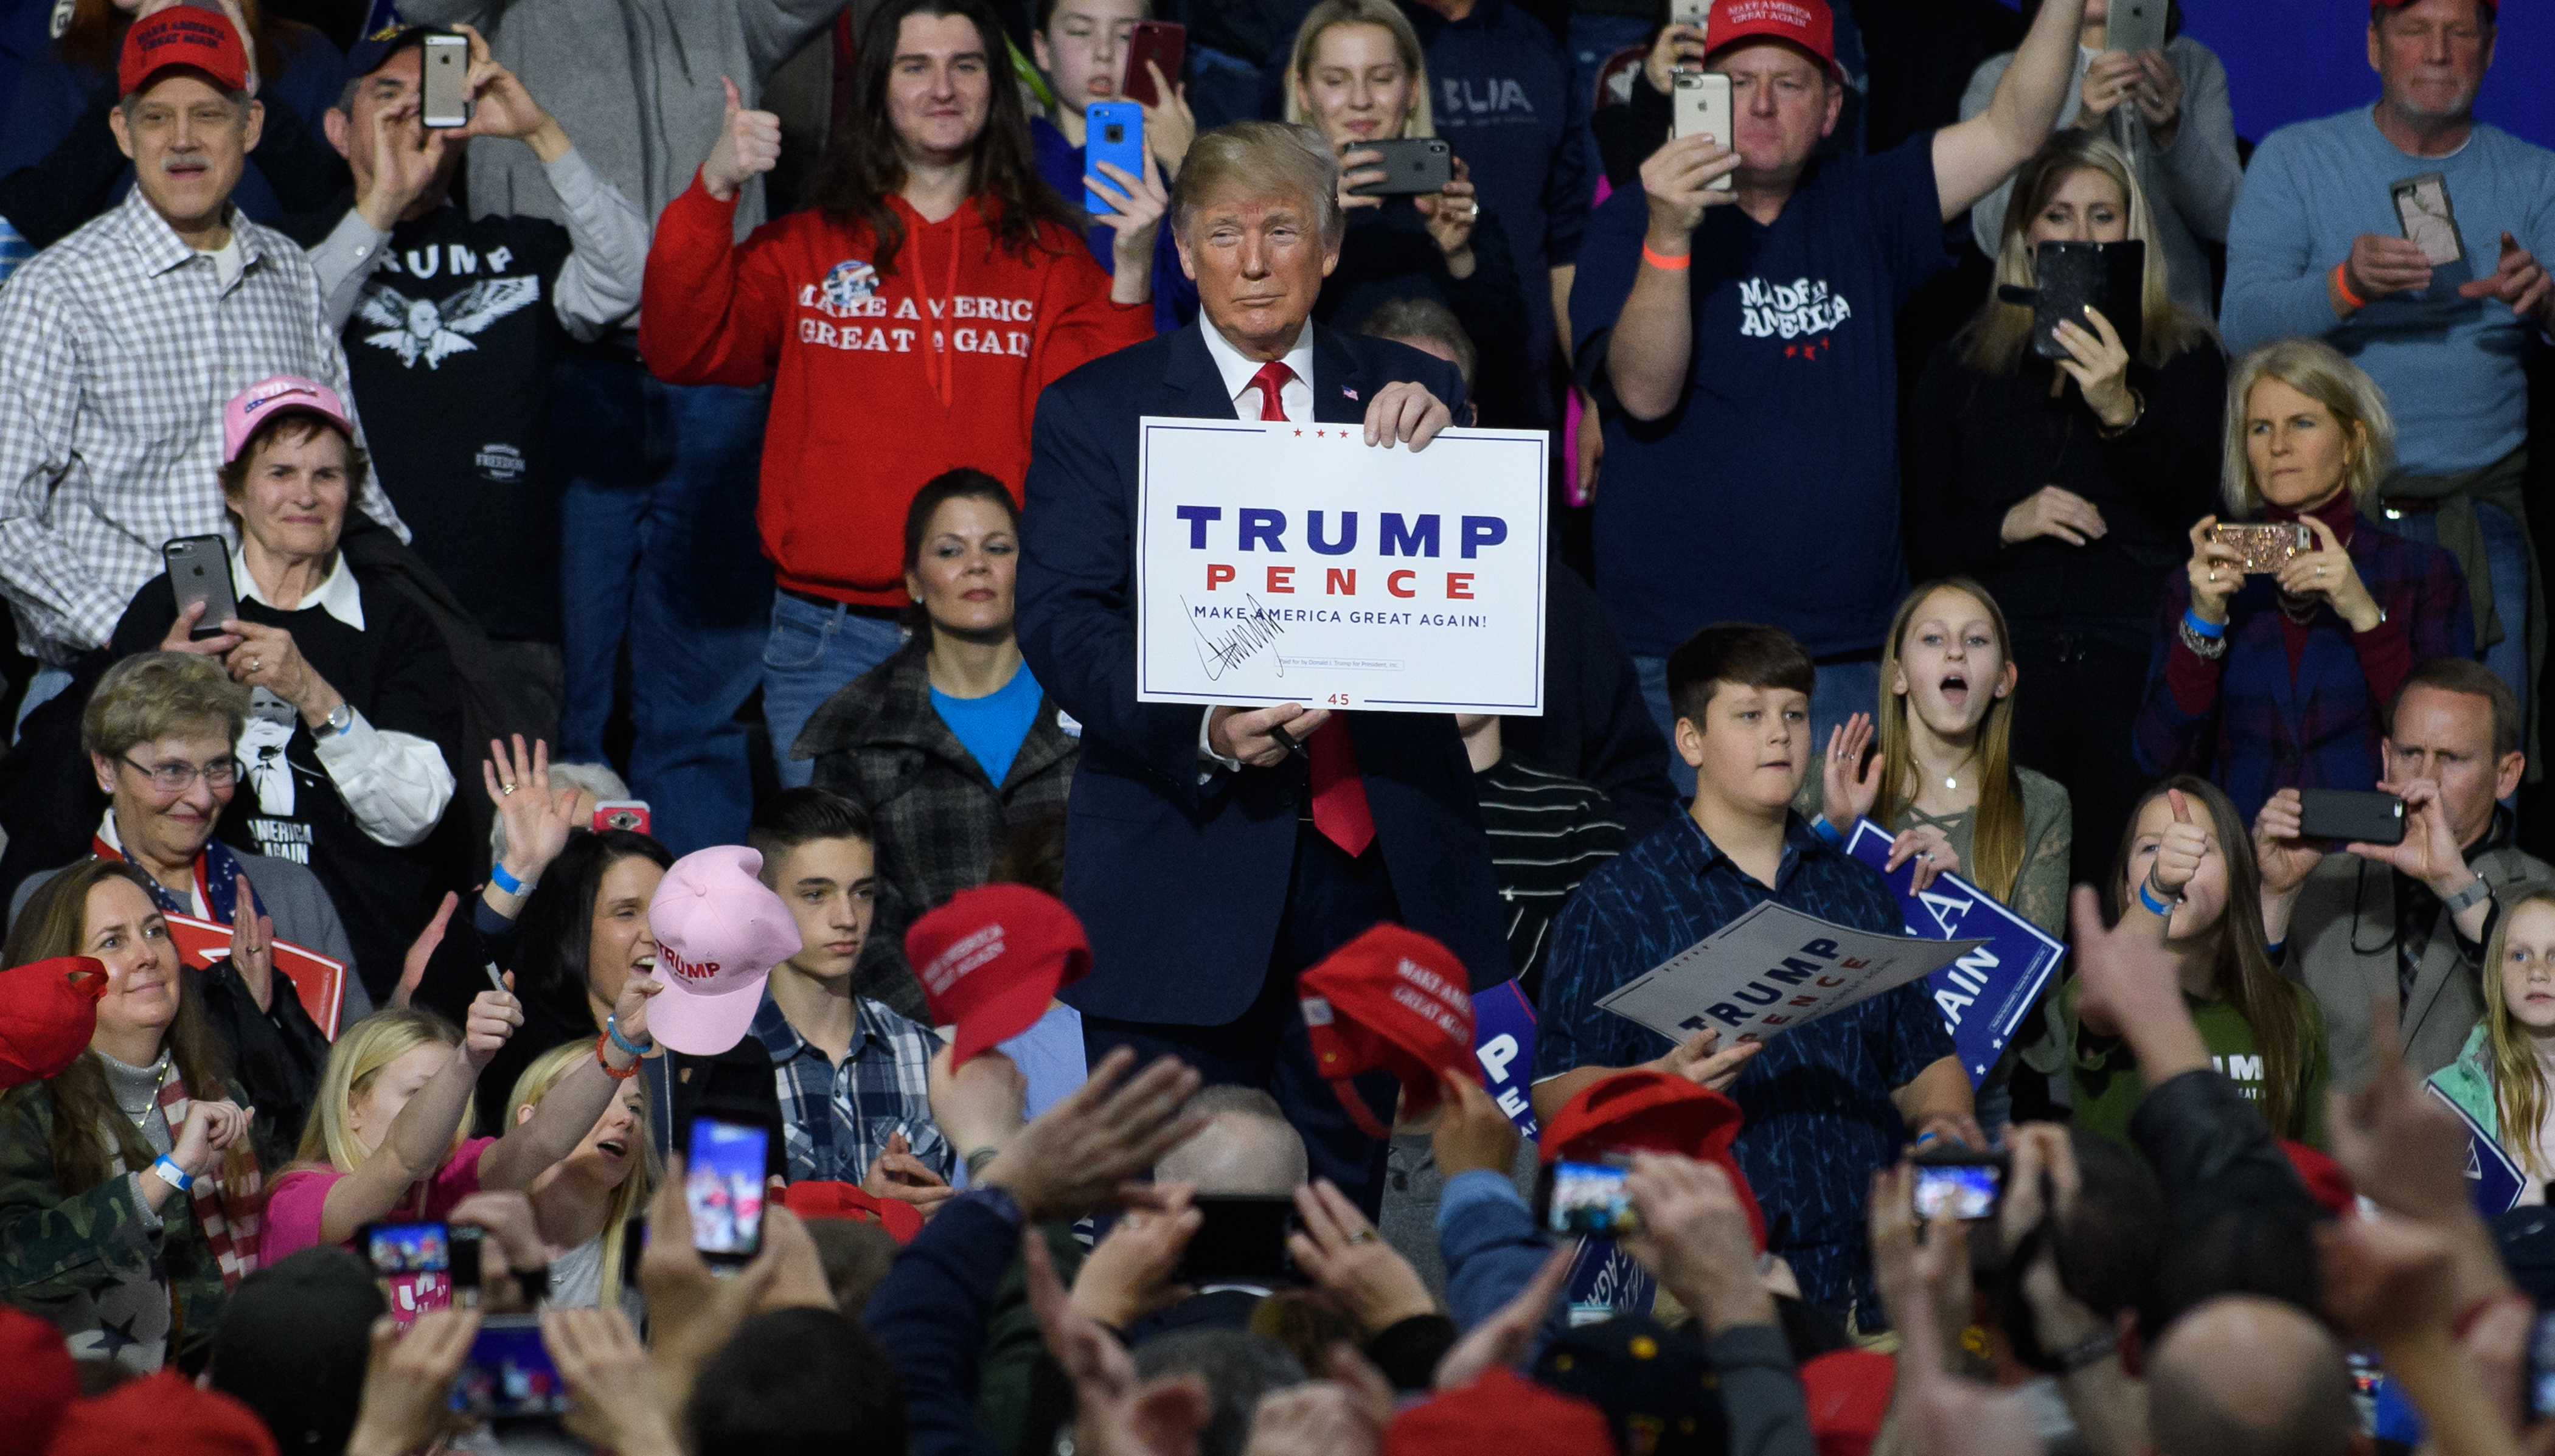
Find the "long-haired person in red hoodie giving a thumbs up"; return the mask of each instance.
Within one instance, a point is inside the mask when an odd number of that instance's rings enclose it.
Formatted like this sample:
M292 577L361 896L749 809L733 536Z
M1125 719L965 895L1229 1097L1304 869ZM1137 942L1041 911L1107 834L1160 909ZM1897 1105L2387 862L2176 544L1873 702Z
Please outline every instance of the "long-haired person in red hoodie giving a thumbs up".
M902 636L897 542L922 483L1030 470L1037 393L1152 337L1155 232L1170 197L1101 163L1114 273L1081 207L1037 174L1002 23L986 0L889 0L861 26L851 110L812 207L736 243L744 181L779 161L779 118L728 102L646 261L639 353L669 383L772 386L764 554L777 567L764 720L784 787L807 715ZM1078 199L1076 199L1078 202Z

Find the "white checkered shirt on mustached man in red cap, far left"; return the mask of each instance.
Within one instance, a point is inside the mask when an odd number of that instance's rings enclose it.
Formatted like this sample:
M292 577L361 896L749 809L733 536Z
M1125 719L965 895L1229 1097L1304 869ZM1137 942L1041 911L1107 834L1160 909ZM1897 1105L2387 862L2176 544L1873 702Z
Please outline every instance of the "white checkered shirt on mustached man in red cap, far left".
M235 393L291 373L353 411L301 248L238 209L230 227L243 268L222 289L135 186L0 289L0 595L41 662L105 646L164 542L225 534ZM355 506L406 539L378 480Z

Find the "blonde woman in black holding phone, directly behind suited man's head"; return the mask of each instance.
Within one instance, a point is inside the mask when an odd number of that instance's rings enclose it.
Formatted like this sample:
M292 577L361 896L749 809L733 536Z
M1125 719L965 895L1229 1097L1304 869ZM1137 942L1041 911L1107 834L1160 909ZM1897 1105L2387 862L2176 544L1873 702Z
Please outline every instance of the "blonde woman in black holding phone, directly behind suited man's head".
M1306 13L1288 59L1285 120L1318 130L1341 163L1349 232L1313 317L1354 327L1392 299L1446 304L1482 360L1482 419L1515 419L1525 299L1507 235L1482 217L1464 158L1449 153L1451 176L1438 192L1359 192L1390 181L1375 143L1436 135L1421 38L1392 0L1321 0Z

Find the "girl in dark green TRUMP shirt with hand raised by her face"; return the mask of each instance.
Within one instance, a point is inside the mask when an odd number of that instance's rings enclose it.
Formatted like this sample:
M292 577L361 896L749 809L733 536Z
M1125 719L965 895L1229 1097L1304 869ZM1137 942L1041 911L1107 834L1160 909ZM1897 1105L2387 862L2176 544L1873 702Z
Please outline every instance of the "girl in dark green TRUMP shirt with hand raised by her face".
M2261 1109L2271 1132L2325 1142L2325 1017L2279 973L2261 937L2261 871L2236 805L2215 784L2177 774L2149 789L2121 835L2113 925L2136 922L2174 955L2210 1060ZM2228 907L2241 907L2228 914ZM2075 1047L2075 1124L2128 1142L2139 1065L2110 1006L2067 981L2059 1014Z

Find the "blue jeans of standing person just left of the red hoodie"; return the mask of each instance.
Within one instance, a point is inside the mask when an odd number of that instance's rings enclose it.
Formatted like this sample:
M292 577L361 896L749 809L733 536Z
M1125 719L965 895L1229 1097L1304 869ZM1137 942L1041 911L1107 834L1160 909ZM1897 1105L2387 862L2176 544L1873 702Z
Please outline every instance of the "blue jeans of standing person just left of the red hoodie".
M603 761L613 674L631 664L629 784L669 851L744 843L746 725L772 626L754 531L769 391L672 386L636 358L583 350L552 375L562 501L560 756Z

